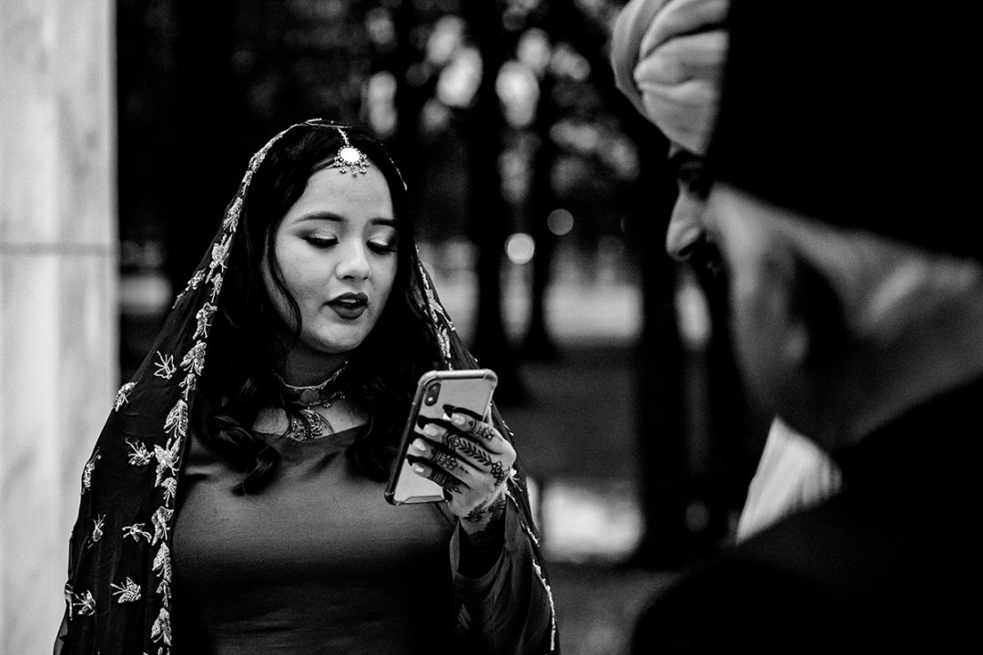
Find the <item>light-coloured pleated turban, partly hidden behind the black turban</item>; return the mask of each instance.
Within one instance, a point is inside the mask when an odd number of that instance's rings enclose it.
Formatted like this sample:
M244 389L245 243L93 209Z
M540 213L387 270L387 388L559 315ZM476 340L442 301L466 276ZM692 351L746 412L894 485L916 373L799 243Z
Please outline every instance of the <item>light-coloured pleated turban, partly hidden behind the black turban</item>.
M632 0L611 38L614 82L665 136L705 154L717 116L727 0Z

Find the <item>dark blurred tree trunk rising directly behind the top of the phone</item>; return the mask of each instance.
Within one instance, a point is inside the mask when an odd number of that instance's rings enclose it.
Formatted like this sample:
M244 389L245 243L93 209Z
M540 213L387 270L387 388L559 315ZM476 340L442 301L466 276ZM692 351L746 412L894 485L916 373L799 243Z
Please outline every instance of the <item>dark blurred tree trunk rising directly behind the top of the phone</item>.
M495 79L505 61L506 34L498 2L464 3L464 18L482 57L482 82L475 105L463 121L467 143L467 221L478 247L478 310L473 351L482 366L498 374L495 398L501 405L522 403L526 389L505 334L501 309L501 255L510 220L501 191L498 159L502 116Z

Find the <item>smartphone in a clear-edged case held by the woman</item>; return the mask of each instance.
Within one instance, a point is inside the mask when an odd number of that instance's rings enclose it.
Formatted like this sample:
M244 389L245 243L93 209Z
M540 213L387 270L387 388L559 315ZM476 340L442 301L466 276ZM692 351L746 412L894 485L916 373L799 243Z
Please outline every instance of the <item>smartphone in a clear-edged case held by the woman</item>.
M422 435L426 419L440 418L446 408L468 409L477 416L487 416L497 383L498 376L488 368L433 370L420 376L410 416L403 428L399 454L385 485L386 501L392 505L410 505L443 500L440 485L413 471L413 458L407 456L407 449Z

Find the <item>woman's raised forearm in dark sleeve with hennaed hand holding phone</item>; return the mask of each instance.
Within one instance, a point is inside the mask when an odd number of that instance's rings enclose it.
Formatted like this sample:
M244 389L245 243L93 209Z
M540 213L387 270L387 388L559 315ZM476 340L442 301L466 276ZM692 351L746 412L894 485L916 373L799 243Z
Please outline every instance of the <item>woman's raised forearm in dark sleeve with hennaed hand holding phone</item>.
M426 460L414 470L444 488L459 519L451 570L462 652L558 653L551 592L522 509L528 504L512 444L491 422L452 413L428 424L409 452Z

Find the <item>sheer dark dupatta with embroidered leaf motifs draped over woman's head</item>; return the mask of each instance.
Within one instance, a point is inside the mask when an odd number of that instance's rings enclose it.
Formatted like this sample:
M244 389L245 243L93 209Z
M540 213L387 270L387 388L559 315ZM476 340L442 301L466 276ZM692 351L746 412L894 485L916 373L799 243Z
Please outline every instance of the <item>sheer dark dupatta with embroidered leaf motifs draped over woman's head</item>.
M222 301L223 275L230 258L237 255L235 235L243 203L254 175L283 136L339 128L345 126L319 120L293 125L253 155L201 264L175 300L137 373L117 393L82 473L56 655L170 653L171 543L178 477L196 392L208 361L209 329ZM427 317L442 365L478 367L438 300L412 235L401 243L411 261L413 301ZM492 420L511 440L511 431L493 406ZM520 470L508 480L507 495L520 512L535 555L534 567L551 605L525 476L519 465L516 468ZM551 607L550 624L555 648Z

